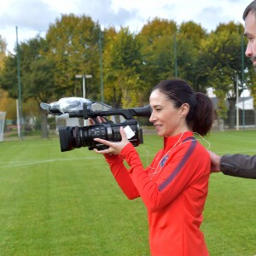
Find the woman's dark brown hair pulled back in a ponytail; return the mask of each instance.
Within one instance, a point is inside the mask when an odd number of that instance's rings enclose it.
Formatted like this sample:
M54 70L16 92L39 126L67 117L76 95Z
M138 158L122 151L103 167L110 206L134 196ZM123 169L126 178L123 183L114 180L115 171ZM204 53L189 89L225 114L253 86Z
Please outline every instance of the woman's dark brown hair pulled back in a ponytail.
M167 99L174 103L175 108L180 108L184 103L189 104L189 113L186 122L191 131L201 136L207 135L211 130L214 119L212 100L201 92L194 92L191 86L182 79L161 81L153 90L160 90Z

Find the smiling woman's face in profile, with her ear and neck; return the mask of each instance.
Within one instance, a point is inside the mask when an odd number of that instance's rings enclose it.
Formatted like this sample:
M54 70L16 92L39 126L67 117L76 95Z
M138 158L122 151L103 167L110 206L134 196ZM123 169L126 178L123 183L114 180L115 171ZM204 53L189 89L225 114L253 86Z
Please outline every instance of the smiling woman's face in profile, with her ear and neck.
M160 90L154 90L151 93L149 102L152 107L149 121L154 124L160 137L175 136L189 130L185 121L189 111L188 104L174 108L173 102L168 100Z

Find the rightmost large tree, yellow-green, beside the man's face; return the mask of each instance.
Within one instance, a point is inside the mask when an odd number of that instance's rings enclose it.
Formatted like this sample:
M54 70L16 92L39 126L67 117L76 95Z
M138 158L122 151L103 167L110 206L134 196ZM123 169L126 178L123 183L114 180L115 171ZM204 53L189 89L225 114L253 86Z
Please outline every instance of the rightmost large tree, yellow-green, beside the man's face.
M213 91L218 95L218 102L223 105L222 102L225 99L229 101L230 128L235 126L236 84L239 85L240 95L243 90L242 73L250 67L250 63L246 60L244 70L241 70L241 57L244 54L241 53L241 44L245 44L244 38L241 38L242 33L241 24L234 22L226 25L220 24L216 31L212 32L201 44L199 61L201 78L207 79L207 85L212 86ZM226 117L223 107L220 113L222 113L220 118Z

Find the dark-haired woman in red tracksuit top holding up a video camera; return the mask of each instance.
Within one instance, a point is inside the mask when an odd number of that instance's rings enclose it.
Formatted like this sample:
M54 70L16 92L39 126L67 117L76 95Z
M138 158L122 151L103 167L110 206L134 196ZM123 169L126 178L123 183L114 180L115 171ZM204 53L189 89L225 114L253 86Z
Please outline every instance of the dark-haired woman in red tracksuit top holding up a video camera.
M200 225L211 160L193 132L204 136L210 131L212 102L204 94L194 93L181 79L157 84L149 102L149 121L164 138L164 148L150 166L143 168L123 128L120 143L95 139L109 146L96 153L105 155L113 176L129 199L142 197L148 209L152 255L208 255ZM131 166L129 170L124 160Z

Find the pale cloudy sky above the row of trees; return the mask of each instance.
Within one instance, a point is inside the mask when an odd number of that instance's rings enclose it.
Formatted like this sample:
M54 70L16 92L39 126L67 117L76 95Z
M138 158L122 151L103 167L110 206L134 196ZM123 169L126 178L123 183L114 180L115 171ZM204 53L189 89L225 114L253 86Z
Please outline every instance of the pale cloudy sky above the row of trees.
M193 20L207 32L219 23L236 23L251 0L2 0L0 35L13 52L17 42L44 37L50 24L61 15L87 15L104 27L128 26L139 32L155 17L174 20L177 25ZM17 27L17 33L16 33Z

